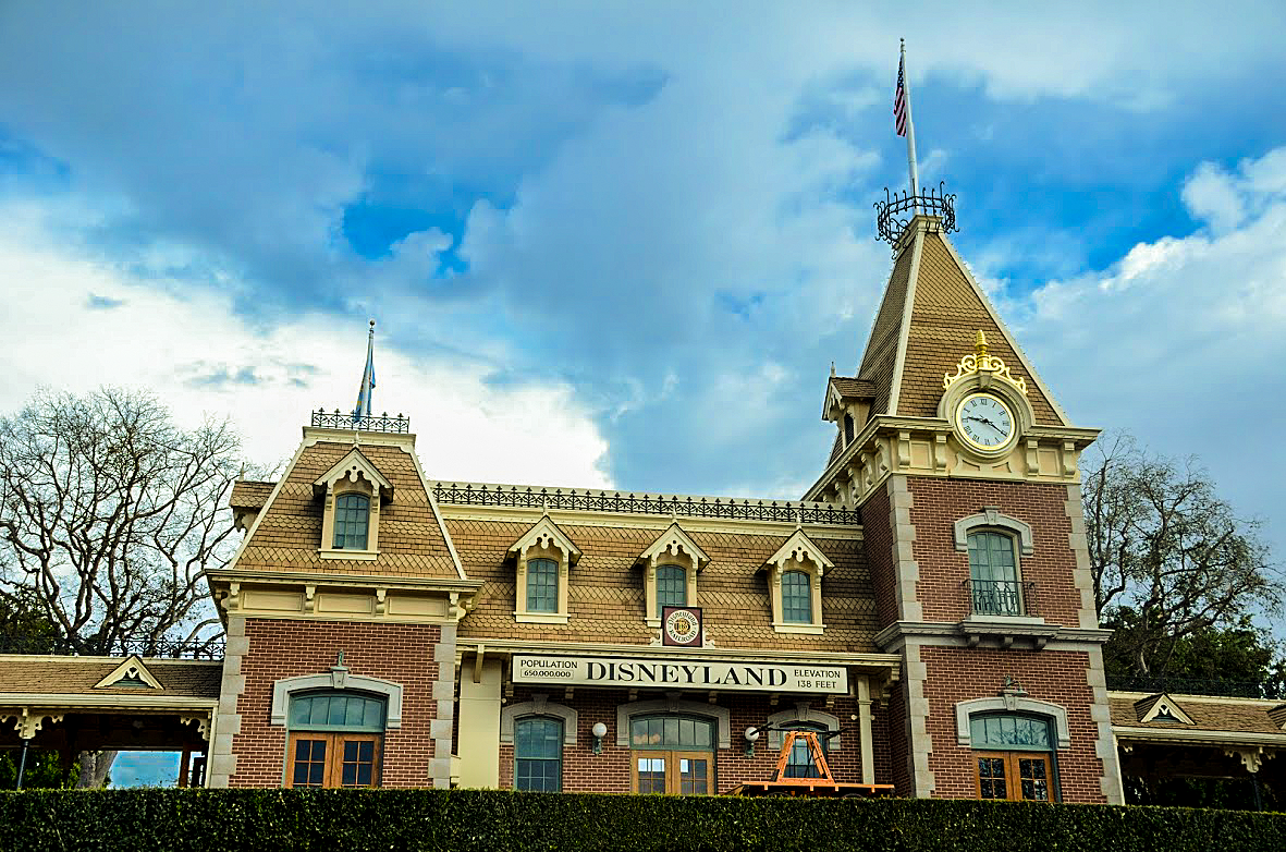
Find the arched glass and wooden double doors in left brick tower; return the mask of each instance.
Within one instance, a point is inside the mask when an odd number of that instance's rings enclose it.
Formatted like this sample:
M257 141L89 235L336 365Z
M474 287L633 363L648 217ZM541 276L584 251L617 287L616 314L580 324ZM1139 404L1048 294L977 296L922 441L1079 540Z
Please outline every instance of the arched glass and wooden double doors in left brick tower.
M382 696L291 695L287 786L378 786L387 705Z

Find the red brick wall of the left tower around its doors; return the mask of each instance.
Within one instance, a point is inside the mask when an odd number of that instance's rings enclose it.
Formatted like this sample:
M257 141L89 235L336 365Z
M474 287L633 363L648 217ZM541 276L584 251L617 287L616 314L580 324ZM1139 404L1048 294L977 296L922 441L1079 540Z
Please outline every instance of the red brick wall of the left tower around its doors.
M237 771L230 786L280 786L285 766L285 728L269 722L273 682L284 677L325 674L343 651L351 674L403 686L401 728L385 734L383 786L430 786L433 757L430 723L439 665L433 651L441 628L427 624L302 622L247 619L249 650L242 660L246 690L237 703L240 734L233 737Z

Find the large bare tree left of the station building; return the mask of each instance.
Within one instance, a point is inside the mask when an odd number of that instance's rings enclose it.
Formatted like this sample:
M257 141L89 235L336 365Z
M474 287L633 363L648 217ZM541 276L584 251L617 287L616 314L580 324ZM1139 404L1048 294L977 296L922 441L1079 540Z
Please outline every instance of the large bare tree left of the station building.
M40 394L0 418L0 588L31 588L81 654L195 637L230 556L238 436L179 429L156 398Z

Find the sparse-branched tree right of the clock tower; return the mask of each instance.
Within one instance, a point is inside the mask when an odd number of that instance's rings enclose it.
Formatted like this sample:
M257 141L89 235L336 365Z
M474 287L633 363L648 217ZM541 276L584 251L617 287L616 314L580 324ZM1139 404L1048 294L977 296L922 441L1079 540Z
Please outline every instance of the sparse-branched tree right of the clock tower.
M1096 447L1082 463L1094 600L1133 673L1163 672L1183 637L1280 606L1259 523L1237 517L1195 459L1129 436Z

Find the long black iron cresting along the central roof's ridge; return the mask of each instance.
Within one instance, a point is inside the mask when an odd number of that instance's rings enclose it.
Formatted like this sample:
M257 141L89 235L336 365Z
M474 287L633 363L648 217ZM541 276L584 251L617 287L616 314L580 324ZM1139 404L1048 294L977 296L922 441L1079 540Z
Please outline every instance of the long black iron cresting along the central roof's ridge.
M562 508L583 512L673 515L683 517L732 517L755 521L859 525L856 510L799 501L751 501L671 494L622 494L621 492L574 488L525 488L521 485L475 485L437 483L433 499L454 506L507 506Z

